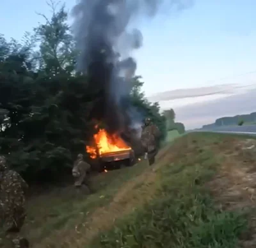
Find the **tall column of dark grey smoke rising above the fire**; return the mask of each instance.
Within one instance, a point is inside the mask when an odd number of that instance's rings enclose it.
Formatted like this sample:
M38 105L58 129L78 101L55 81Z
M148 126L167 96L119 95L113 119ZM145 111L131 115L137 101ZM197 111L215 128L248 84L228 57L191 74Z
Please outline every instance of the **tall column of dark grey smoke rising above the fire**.
M187 8L192 0L169 0L175 10ZM87 73L91 88L100 90L95 118L106 123L109 131L124 131L132 124L129 103L131 80L136 61L131 52L141 47L138 29L129 31L141 17L154 17L161 0L79 0L74 6L74 33L81 51L78 70Z

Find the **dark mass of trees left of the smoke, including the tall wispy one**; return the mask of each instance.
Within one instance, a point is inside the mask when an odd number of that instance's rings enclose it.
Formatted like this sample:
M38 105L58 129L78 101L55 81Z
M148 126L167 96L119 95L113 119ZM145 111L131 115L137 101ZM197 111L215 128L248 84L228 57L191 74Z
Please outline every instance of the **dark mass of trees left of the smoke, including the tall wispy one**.
M92 132L94 96L86 78L72 73L76 51L67 13L53 3L52 10L35 29L39 51L28 47L28 39L8 43L0 37L1 152L29 180L69 168Z

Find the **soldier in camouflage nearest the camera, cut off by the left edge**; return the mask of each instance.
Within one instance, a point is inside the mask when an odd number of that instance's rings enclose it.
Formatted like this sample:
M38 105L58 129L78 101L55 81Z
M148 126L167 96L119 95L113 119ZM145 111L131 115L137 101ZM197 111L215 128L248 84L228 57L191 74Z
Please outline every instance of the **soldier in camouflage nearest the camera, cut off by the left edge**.
M16 171L10 170L4 156L0 156L0 228L1 236L11 240L15 248L28 247L28 240L19 237L24 224L25 194L28 184ZM2 240L3 241L3 240ZM1 243L0 243L1 247Z

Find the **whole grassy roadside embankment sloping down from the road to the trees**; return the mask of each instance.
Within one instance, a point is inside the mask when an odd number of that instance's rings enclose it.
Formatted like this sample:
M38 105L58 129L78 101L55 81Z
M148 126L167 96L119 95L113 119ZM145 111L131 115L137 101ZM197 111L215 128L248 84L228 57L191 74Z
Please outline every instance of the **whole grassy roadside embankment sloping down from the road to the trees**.
M35 248L236 247L256 226L244 232L254 192L244 158L254 157L243 140L192 133L166 145L154 166L142 161L95 177L95 194L77 198L71 187L38 196L24 233ZM245 240L239 244L253 247Z

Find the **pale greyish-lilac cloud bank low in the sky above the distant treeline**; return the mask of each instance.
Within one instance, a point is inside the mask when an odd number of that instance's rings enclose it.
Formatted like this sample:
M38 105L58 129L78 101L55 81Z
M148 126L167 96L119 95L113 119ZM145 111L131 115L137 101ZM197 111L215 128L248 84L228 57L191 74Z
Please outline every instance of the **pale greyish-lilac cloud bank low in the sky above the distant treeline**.
M255 84L216 85L163 93L171 100L159 101L159 105L163 110L173 107L177 121L183 122L187 129L200 128L223 116L256 111ZM163 93L159 94L163 97Z

